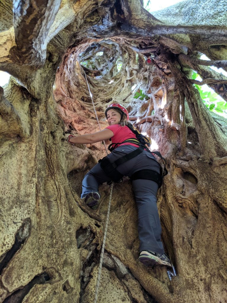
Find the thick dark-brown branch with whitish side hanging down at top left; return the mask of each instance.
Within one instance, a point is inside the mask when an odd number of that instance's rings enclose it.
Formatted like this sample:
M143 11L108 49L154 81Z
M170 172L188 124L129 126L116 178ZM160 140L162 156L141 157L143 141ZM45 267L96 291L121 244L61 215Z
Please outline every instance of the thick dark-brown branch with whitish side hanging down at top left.
M60 0L14 1L14 29L17 48L11 49L13 61L26 65L44 63L46 38L60 4Z

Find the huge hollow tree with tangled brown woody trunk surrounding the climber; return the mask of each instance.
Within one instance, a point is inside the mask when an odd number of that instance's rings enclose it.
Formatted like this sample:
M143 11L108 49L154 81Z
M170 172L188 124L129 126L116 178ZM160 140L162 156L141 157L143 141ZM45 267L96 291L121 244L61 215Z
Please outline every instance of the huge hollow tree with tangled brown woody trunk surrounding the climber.
M150 14L139 0L0 0L0 70L12 75L0 87L0 302L94 301L110 188L100 186L97 210L80 194L105 149L65 140L99 130L85 74L101 128L120 102L167 160L157 205L174 266L138 261L124 178L98 302L227 302L227 121L190 80L194 69L227 99L226 78L199 60L226 70L226 5L188 0Z

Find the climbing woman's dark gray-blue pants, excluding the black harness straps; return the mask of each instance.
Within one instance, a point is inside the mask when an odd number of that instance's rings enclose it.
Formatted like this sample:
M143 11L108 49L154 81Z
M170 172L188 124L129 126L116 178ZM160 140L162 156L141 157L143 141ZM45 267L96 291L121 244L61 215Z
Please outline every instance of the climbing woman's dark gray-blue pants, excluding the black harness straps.
M108 155L113 162L118 158L130 153L137 147L132 145L121 145ZM153 169L160 172L160 166L155 157L144 150L140 155L124 162L117 167L117 170L124 176L131 176L141 169ZM91 191L98 191L99 185L111 181L97 163L85 176L82 182L81 198L84 198ZM161 242L161 224L157 209L156 194L158 185L151 180L138 179L132 181L133 191L138 209L138 232L140 239L140 251L149 250L160 254L164 253Z

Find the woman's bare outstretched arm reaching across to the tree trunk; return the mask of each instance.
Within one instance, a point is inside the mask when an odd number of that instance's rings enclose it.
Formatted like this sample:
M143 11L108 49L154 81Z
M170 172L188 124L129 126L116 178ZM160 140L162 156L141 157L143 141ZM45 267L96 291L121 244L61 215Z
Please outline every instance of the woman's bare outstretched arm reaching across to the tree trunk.
M70 138L69 142L73 144L88 144L107 140L111 137L113 137L113 132L110 129L105 128L100 132Z

